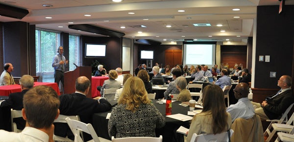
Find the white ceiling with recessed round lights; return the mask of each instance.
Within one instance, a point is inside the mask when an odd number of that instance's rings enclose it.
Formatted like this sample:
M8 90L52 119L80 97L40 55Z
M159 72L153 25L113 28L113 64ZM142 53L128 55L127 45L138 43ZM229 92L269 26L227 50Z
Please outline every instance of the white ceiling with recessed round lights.
M242 44L253 34L253 19L256 18L257 5L278 5L280 1L123 0L116 3L112 0L0 0L0 2L29 11L22 20L0 16L0 22L23 21L36 24L38 28L79 35L103 36L69 29L68 22L73 22L73 24L92 24L123 32L125 33L123 37L130 39L151 39L160 42L164 42L163 39L167 39L168 42L184 39L197 39L197 41L230 39L233 43ZM42 4L51 4L53 7L43 7ZM294 0L286 0L287 4L294 4ZM233 8L241 10L232 11ZM185 12L177 12L177 10L185 10ZM128 12L135 14L130 15ZM85 14L92 16L85 17ZM235 19L234 16L240 18ZM211 26L193 25L204 23L209 23ZM165 27L166 24L171 24L172 27ZM218 27L216 24L223 26ZM138 25L147 27L138 27ZM126 28L122 29L120 26ZM222 29L226 32L220 32ZM138 31L143 33L137 33ZM210 35L212 37L208 37Z

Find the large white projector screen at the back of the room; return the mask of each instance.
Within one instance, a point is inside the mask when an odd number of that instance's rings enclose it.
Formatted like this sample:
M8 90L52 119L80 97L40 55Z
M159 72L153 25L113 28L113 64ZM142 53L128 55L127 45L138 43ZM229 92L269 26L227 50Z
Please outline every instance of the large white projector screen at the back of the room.
M184 44L183 65L206 65L211 69L216 61L215 44Z

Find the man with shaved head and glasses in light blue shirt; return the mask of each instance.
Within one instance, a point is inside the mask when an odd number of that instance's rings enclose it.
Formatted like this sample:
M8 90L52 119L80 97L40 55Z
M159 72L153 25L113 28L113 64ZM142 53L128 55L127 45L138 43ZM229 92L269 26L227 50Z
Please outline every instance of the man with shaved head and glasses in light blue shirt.
M234 89L235 98L238 99L236 104L232 104L227 108L227 112L230 113L232 121L236 118L249 119L254 114L253 105L248 99L249 85L246 83L239 83Z

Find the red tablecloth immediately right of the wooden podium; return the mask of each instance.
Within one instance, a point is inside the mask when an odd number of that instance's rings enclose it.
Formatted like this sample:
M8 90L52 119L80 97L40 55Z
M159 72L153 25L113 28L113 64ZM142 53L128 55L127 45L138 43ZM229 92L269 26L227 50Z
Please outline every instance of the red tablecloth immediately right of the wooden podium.
M108 76L95 76L92 77L92 82L91 82L91 92L92 92L92 98L96 96L101 96L100 92L97 90L97 86L102 86L104 83L104 80L109 79Z

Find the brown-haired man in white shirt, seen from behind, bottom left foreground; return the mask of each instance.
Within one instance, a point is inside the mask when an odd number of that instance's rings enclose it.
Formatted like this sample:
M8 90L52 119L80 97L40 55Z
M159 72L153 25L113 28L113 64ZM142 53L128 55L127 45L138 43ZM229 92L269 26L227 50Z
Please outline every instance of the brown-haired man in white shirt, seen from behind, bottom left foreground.
M24 95L23 118L25 129L21 133L0 130L1 142L54 142L52 124L59 116L57 93L49 86L37 86Z

